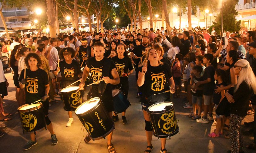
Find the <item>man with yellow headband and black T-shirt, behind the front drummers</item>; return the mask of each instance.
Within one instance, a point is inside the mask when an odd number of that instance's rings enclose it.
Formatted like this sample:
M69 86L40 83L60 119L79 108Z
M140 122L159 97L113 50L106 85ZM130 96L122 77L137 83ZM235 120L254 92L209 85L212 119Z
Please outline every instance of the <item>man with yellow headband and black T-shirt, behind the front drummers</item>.
M81 40L82 45L76 48L76 55L79 55L79 60L80 60L80 65L81 67L84 67L86 65L86 60L89 54L87 54L87 39L86 38L82 38ZM83 61L84 60L84 61Z

